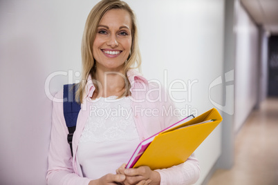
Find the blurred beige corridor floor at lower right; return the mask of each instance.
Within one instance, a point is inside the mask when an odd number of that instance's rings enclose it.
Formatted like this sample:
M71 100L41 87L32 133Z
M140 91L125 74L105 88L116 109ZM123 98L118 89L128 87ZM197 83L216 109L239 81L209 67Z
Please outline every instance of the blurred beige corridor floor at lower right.
M278 99L263 101L235 140L234 166L218 170L208 185L278 184Z

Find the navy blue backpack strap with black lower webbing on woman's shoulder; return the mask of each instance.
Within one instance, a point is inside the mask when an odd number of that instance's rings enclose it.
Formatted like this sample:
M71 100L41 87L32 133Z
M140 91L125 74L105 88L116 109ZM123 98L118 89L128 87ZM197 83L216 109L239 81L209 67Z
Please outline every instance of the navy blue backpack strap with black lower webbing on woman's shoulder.
M78 84L66 84L64 85L63 93L64 119L68 127L68 144L71 147L71 155L73 155L73 133L75 132L77 117L81 108L80 104L75 101L75 92L77 88Z

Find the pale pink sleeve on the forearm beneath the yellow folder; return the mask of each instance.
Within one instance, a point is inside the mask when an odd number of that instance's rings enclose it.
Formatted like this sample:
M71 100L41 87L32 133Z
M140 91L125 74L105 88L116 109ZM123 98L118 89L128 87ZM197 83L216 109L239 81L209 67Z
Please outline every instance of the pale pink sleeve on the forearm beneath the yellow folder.
M194 184L200 176L198 159L194 157L194 153L183 164L156 171L160 174L160 185Z

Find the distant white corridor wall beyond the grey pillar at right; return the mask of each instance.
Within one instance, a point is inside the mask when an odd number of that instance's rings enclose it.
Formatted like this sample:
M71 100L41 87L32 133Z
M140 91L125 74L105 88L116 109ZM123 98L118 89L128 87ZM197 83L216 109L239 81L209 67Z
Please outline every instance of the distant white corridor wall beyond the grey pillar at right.
M236 11L234 130L237 132L257 103L259 29L239 1Z

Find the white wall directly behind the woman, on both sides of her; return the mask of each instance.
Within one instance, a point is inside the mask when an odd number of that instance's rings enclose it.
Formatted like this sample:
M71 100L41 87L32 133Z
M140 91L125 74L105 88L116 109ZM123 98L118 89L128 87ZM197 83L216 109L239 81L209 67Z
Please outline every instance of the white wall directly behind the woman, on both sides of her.
M138 17L143 74L168 87L177 79L184 82L174 87L185 85L187 91L173 93L176 99L185 99L177 104L184 113L212 108L209 86L224 73L224 1L127 2ZM95 3L1 1L1 184L45 184L51 101L44 84L53 72L80 71L82 32ZM54 77L50 92L62 88L67 78ZM71 80L75 79L73 75ZM222 88L215 86L210 92L218 104L223 104ZM221 126L196 150L202 171L197 184L220 154Z

